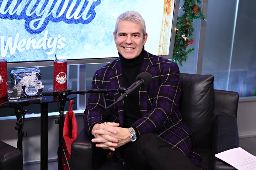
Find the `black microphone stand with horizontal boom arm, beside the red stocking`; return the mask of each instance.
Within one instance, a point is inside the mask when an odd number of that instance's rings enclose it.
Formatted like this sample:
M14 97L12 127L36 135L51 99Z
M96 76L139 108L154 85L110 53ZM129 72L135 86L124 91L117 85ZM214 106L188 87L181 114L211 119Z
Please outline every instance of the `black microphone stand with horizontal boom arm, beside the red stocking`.
M85 95L88 93L103 93L105 95L108 95L108 92L125 92L126 88L124 87L120 87L118 89L113 89L113 90L109 90L109 89L90 89L87 91L74 91L71 89L65 89L63 91L59 91L59 92L54 92L54 94L59 94L58 95L58 102L60 103L60 106L58 105L58 109L59 109L59 119L55 120L55 124L59 124L59 150L58 150L58 170L62 170L62 138L63 138L63 128L64 128L64 107L65 107L65 103L66 101L70 100L67 96L72 95L72 94L79 94L79 95ZM54 95L53 94L53 95Z

